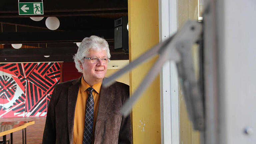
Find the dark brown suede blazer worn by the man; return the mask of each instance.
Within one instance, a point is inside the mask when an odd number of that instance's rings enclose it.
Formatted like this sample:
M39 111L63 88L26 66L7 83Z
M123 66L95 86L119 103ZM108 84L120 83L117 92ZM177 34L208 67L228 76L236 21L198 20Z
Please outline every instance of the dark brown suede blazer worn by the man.
M74 115L81 77L57 84L47 110L42 144L72 144ZM130 116L120 108L129 98L129 86L115 82L101 87L94 144L131 144Z

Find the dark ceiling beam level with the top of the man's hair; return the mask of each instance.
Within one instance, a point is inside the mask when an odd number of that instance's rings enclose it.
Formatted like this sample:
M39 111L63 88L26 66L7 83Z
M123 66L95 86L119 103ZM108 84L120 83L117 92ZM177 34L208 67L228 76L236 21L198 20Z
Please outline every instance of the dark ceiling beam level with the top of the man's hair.
M1 44L12 43L44 43L44 42L81 42L85 37L96 35L106 40L113 40L114 30L81 30L81 31L50 31L50 32L2 32Z

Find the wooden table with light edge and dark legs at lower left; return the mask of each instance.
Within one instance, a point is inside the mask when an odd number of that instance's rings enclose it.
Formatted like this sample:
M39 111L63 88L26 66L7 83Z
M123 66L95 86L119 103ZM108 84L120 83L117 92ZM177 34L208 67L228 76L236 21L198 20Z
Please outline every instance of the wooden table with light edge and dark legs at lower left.
M3 142L6 144L6 135L11 134L10 142L13 144L13 132L22 130L22 143L27 143L27 131L26 128L29 125L35 124L35 121L12 121L12 122L0 122L0 136L3 136Z

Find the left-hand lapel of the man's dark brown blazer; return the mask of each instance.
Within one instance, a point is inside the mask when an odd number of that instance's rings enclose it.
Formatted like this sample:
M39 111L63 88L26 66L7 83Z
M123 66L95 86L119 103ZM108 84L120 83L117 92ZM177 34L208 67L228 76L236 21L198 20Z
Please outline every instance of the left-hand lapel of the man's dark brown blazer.
M67 121L68 121L68 135L69 143L73 143L73 130L74 130L74 115L76 108L76 100L81 83L81 78L78 78L72 82L72 85L68 88L68 100L67 100Z

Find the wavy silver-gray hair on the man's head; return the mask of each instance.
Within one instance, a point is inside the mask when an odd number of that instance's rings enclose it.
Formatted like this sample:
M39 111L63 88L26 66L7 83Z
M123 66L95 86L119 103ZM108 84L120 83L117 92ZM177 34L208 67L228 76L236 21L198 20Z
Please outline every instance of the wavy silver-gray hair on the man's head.
M84 57L89 55L90 49L96 51L105 50L107 52L108 58L110 58L108 42L104 38L100 38L94 35L86 37L81 42L80 46L78 47L77 53L73 57L78 72L83 73L83 70L80 68L80 64L84 63Z

